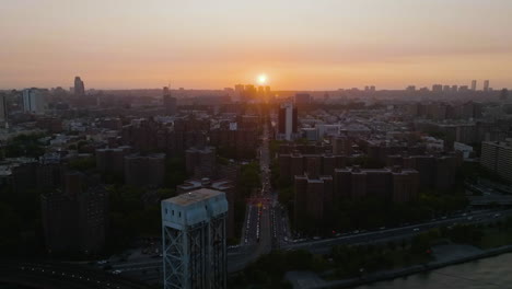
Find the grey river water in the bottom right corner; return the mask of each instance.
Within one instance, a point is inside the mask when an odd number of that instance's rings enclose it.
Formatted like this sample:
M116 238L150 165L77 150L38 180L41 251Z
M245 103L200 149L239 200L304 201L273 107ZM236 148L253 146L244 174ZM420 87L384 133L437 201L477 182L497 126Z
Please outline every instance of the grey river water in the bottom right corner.
M356 289L512 289L512 253Z

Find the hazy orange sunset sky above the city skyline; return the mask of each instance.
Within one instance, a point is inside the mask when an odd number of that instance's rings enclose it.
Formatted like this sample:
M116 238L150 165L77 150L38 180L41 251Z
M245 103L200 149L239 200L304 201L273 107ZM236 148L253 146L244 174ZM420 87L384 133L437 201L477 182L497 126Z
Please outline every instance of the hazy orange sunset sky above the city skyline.
M511 0L0 0L0 89L512 88Z

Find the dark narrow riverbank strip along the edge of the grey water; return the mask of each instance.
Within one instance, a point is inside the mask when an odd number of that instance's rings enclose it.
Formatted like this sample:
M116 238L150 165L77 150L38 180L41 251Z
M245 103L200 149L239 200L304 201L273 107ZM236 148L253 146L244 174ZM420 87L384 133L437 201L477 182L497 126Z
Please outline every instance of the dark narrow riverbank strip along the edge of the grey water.
M466 253L464 256L456 256L454 258L444 258L442 261L433 261L422 265L410 266L407 268L402 269L394 269L394 270L386 270L370 274L368 276L363 276L361 278L353 278L353 279L345 279L345 280L336 280L336 281L324 281L324 282L316 282L316 286L309 286L307 288L352 288L357 286L362 286L366 284L373 284L376 281L384 281L384 280L392 280L395 278L407 277L410 275L426 273L429 270L434 270L452 265L457 265L462 263L467 263L472 261L477 261L481 258L488 258L498 256L504 253L511 253L512 245L489 248L485 251L476 251L472 253ZM301 286L294 286L301 288Z

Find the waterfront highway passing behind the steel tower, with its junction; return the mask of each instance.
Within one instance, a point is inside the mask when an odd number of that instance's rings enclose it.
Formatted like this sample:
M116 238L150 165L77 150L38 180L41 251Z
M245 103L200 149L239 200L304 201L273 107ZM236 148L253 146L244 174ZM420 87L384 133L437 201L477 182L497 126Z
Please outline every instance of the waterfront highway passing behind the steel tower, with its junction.
M263 208L263 206L261 206ZM280 210L279 205L272 208L274 211ZM281 210L282 211L282 210ZM252 242L247 245L241 245L236 247L230 247L228 251L228 269L230 273L243 269L251 262L254 262L260 254L269 252L269 246L272 248L281 250L307 250L314 254L328 254L333 246L341 244L368 244L368 243L382 243L389 241L402 241L403 239L410 239L421 232L428 231L434 228L450 227L462 223L478 223L478 222L493 222L502 220L509 216L512 216L512 209L508 210L486 210L486 211L474 211L468 213L461 213L455 217L445 219L431 220L429 222L405 226L399 228L389 228L375 231L361 231L351 232L337 238L323 239L323 240L291 240L289 228L287 228L288 221L284 218L281 221L272 221L270 219L277 219L272 217L272 210L269 210L269 222L272 230L263 230L260 241L267 240L265 243ZM261 216L265 216L263 213ZM280 233L279 233L280 232ZM277 238L275 238L275 234ZM255 235L255 234L253 234ZM268 240L272 240L269 244ZM276 242L278 240L279 242ZM144 262L127 262L121 264L112 264L112 270L123 270L123 275L130 276L144 281L159 281L161 279L162 261L161 258L151 258Z

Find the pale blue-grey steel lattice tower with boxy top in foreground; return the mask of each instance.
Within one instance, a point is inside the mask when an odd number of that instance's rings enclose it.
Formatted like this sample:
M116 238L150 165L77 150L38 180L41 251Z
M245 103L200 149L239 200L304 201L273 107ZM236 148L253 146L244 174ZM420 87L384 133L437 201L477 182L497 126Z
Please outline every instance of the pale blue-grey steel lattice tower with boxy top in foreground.
M228 200L201 188L162 200L164 288L226 288Z

